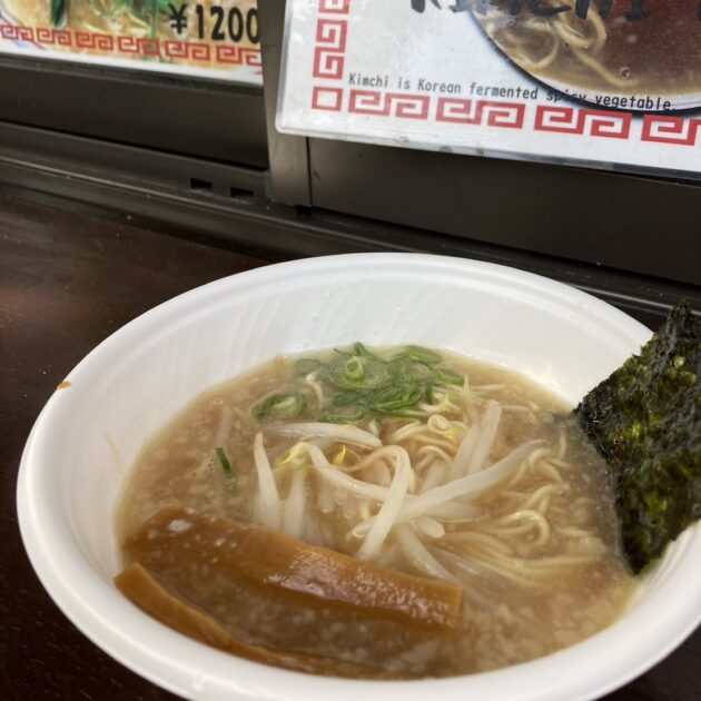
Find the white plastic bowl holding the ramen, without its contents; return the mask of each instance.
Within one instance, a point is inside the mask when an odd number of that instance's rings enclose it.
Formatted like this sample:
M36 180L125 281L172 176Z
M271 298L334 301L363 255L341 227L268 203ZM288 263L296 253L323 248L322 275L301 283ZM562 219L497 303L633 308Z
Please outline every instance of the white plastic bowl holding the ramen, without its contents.
M701 620L701 531L689 530L615 624L564 651L445 680L356 682L263 667L141 613L112 585L113 513L146 440L203 389L280 353L367 344L453 348L525 373L572 404L650 332L559 283L471 260L358 254L211 283L125 326L49 399L22 456L20 525L56 603L128 668L192 699L591 699L641 674Z

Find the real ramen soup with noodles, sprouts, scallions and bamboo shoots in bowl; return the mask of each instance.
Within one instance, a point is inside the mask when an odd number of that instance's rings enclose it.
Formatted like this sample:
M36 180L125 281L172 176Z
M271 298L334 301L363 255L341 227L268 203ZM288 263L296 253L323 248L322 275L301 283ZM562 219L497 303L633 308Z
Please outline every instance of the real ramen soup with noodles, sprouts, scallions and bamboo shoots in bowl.
M416 346L278 358L142 451L127 596L288 669L448 677L572 645L623 611L605 463L570 407Z

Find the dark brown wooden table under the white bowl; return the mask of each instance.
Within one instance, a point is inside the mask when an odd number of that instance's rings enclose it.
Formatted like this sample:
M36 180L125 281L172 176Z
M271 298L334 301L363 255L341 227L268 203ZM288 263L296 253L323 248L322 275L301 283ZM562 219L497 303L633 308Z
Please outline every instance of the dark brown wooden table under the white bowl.
M0 189L0 701L176 698L112 661L49 599L20 540L18 465L42 405L96 344L174 295L275 259ZM609 699L698 701L700 660L697 630Z

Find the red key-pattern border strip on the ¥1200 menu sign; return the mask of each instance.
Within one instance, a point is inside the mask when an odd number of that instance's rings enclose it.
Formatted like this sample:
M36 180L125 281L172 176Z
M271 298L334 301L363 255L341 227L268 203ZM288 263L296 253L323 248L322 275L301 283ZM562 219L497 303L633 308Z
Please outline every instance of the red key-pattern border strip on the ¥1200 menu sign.
M126 56L146 56L152 58L187 59L192 61L211 61L217 63L260 67L260 50L195 41L150 39L101 34L97 32L72 31L70 29L49 29L47 27L21 27L1 24L0 37L10 41L31 41L42 48L53 46L75 47L76 49L95 49L113 51Z

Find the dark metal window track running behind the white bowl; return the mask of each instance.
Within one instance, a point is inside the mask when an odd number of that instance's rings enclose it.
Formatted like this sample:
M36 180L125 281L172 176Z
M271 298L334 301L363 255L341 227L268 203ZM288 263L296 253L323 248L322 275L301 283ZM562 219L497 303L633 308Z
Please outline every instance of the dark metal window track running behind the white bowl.
M139 174L138 176L136 174ZM271 203L267 172L0 122L0 184L52 204L282 257L404 250L470 257L584 289L656 327L679 297L701 310L701 288L316 208ZM31 194L29 195L32 196ZM36 195L33 195L36 196ZM111 214L110 214L111 213Z

